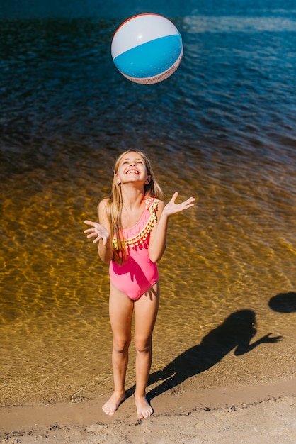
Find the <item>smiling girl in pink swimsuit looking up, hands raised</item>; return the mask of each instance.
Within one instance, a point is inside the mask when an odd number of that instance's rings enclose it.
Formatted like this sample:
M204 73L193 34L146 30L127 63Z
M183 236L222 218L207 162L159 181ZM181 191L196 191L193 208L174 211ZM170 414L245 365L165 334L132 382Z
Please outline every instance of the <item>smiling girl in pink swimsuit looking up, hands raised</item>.
M176 204L178 193L164 205L149 159L140 150L129 150L115 163L112 192L98 204L99 223L84 231L98 243L98 255L109 265L109 313L113 331L114 392L103 405L113 415L125 399L125 374L135 311L137 418L153 409L146 399L152 362L152 331L159 307L159 275L156 262L166 249L169 216L193 206L193 197Z

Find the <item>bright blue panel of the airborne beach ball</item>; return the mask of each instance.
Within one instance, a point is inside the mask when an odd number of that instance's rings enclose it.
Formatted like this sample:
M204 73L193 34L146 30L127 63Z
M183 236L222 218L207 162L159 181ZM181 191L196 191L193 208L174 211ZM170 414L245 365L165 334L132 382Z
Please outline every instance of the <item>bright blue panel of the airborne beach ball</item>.
M182 50L181 35L167 35L138 45L115 57L114 63L123 74L135 77L154 77L178 60Z

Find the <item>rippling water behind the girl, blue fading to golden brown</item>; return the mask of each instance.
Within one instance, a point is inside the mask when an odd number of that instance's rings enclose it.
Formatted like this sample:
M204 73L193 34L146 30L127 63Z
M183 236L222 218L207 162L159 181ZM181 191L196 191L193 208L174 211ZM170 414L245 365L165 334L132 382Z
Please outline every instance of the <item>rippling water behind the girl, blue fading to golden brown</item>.
M159 264L152 394L295 374L296 11L244 3L154 9L184 57L149 87L110 60L115 29L143 9L1 13L1 405L111 391L108 268L83 221L130 147L167 199L197 199Z

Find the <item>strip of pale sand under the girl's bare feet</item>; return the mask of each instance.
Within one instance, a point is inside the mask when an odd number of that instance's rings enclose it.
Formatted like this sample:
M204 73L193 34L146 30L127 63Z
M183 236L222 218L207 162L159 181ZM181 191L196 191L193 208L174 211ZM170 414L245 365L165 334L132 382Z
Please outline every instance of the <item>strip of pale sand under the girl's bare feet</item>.
M296 443L294 379L252 387L166 392L137 421L130 396L113 417L107 399L0 409L0 443Z

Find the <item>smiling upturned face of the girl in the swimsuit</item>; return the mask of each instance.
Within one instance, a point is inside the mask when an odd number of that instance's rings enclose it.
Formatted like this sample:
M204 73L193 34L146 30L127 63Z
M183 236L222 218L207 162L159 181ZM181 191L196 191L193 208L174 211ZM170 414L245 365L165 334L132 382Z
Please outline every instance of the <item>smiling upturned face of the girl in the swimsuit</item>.
M115 172L117 184L138 183L149 184L151 177L147 166L139 152L130 151L121 157L118 170Z

